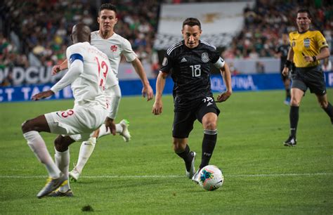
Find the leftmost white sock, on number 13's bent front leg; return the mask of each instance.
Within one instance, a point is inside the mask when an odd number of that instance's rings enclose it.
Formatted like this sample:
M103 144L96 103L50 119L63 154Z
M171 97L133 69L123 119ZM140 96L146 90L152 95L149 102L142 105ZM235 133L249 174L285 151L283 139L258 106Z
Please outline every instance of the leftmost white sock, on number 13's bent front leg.
M23 136L27 140L27 144L31 148L34 155L39 159L39 161L45 165L46 170L48 171L48 176L51 178L59 178L60 169L55 165L53 159L48 153L45 142L41 138L40 134L37 131L28 131L23 133Z

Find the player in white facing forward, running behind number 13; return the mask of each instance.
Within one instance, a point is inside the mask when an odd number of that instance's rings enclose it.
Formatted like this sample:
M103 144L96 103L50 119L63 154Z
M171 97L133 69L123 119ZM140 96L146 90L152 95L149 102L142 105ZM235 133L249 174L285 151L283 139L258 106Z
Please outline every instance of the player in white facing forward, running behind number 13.
M128 62L131 62L134 69L136 70L136 73L140 77L141 82L143 83L143 97L147 96L147 100L151 100L154 95L145 75L141 61L137 58L136 53L133 52L129 41L114 32L114 27L117 24L116 13L117 9L112 4L103 4L100 6L98 13L99 30L91 33L91 44L96 46L98 49L100 49L100 51L103 51L103 53L107 55L110 60L112 69L116 75L118 73L121 55L123 55ZM65 70L66 68L67 61L65 60L61 65L55 65L53 67L53 74L59 72L60 70ZM111 108L115 110L114 116L116 116L119 107L119 101L121 99L121 91L119 87L112 95L112 98L114 98L113 100L115 100L115 102L111 103ZM113 119L115 118L112 118L112 122ZM116 132L121 134L125 141L129 141L130 135L124 119L122 122L120 122L120 124L116 124L115 126ZM77 165L72 171L70 171L70 177L73 181L77 181L82 169L84 168L84 165L91 156L93 149L95 148L96 138L105 136L109 133L110 131L106 130L105 126L102 125L100 126L100 129L98 129L98 131L96 131L93 136L89 138L89 141L84 141L81 144Z

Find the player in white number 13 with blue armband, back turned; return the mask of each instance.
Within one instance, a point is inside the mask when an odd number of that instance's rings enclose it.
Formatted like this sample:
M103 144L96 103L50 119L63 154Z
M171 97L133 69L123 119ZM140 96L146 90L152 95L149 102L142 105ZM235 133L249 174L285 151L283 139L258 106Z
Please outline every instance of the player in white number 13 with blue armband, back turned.
M22 124L22 133L27 144L48 171L49 180L37 194L39 198L48 195L60 185L67 188L67 196L72 196L67 183L70 152L65 141L70 140L72 134L81 134L83 138L89 138L90 133L103 124L107 117L104 89L117 86L117 79L112 73L107 56L89 44L90 34L89 27L83 23L74 25L72 29L74 44L66 51L68 72L50 90L32 96L32 100L47 98L71 84L74 107L70 110L40 115ZM112 129L111 125L107 126ZM55 162L39 134L41 131L60 134L55 141ZM115 133L114 128L113 133Z

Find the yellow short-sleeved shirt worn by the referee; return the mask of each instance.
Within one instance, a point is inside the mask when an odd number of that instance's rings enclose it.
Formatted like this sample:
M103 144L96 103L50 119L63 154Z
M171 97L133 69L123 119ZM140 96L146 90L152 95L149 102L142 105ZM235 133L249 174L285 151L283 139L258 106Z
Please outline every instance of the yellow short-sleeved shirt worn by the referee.
M294 51L293 61L296 67L313 67L319 65L319 60L306 62L304 56L317 56L321 48L328 47L327 41L320 31L290 32L289 41Z

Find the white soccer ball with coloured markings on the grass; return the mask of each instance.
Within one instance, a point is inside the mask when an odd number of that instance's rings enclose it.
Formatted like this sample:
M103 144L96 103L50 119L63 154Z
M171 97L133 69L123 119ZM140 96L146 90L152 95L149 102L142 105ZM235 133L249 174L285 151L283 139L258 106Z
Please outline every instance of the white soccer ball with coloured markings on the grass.
M221 169L208 165L200 170L199 184L204 190L216 190L223 185L224 177Z

